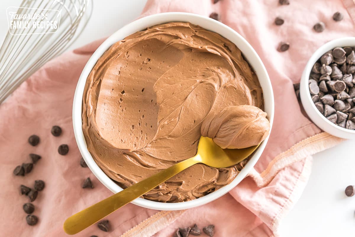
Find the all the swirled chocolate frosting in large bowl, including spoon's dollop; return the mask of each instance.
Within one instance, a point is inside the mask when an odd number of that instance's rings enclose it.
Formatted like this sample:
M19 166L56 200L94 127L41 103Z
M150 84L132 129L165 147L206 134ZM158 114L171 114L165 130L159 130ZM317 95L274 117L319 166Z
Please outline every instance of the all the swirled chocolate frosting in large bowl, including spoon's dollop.
M240 50L217 33L171 22L136 32L99 58L84 89L83 133L98 166L126 188L194 156L201 131L225 147L260 142L269 126L256 107L263 108L262 90ZM196 199L238 172L197 164L144 198Z

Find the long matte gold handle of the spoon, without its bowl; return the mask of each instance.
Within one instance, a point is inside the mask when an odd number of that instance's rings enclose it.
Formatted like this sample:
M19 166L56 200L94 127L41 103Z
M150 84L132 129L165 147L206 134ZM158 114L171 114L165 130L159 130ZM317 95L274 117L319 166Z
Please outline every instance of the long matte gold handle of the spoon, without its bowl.
M69 235L74 235L84 230L115 210L157 187L159 184L173 177L175 174L178 174L184 169L199 162L201 162L200 155L181 161L176 165L164 169L163 171L160 171L159 173L154 174L141 182L133 184L131 187L128 187L121 192L116 193L109 198L72 215L64 222L64 231Z

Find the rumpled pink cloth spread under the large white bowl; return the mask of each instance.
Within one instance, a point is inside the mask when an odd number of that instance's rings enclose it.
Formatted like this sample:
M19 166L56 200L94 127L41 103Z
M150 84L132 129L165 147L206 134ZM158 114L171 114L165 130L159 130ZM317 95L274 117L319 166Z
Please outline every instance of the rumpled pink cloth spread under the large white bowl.
M239 32L251 43L264 62L274 89L275 120L271 138L260 161L230 193L204 206L186 211L156 211L126 205L107 217L110 231L91 226L77 236L173 236L176 228L197 223L215 225L214 236L277 236L280 220L299 198L310 174L315 152L331 147L342 139L322 133L307 117L294 93L310 55L323 43L353 36L355 4L351 0L298 0L279 5L277 0L148 0L142 16L167 11L184 11L209 16L217 12L220 21ZM340 22L332 20L335 11L344 14ZM275 26L274 19L285 19ZM326 24L322 33L312 27ZM279 53L280 41L290 49ZM45 64L0 105L0 223L2 236L65 236L64 220L70 215L111 195L90 172L79 165L72 128L72 99L85 63L102 42L65 53ZM59 125L59 137L50 134ZM37 134L40 143L32 147L27 139ZM60 144L69 145L66 156L58 154ZM13 169L30 162L29 153L42 158L26 176L14 176ZM82 189L90 177L94 189ZM28 198L19 194L20 184L33 187L34 180L46 183L33 202L35 226L28 226L22 205Z

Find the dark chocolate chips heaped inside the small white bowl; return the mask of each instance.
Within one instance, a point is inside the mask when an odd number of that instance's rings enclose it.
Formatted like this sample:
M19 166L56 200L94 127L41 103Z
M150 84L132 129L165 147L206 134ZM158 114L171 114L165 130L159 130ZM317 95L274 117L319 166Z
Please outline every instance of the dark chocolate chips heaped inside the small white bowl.
M351 130L355 130L354 74L354 48L336 47L318 59L308 80L317 109L332 123Z

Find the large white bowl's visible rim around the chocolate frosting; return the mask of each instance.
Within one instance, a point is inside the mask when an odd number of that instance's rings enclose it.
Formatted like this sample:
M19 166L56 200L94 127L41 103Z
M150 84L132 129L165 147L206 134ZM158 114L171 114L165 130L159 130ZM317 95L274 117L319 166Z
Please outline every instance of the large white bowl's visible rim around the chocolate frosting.
M94 173L94 175L101 181L108 189L110 189L114 193L118 193L122 190L122 188L114 183L95 163L90 152L87 149L86 141L84 139L83 131L82 131L82 98L83 98L83 90L86 83L86 79L91 72L92 68L96 64L97 60L103 53L114 43L120 41L121 39L129 36L132 33L137 31L141 31L142 29L154 26L160 23L173 22L173 21L182 21L182 22L191 22L192 24L199 25L205 29L210 31L217 32L223 37L229 39L233 42L243 53L246 60L249 61L252 68L255 70L260 85L263 89L264 102L265 102L265 112L268 114L268 119L271 123L273 123L274 118L274 97L271 82L267 71L255 52L255 50L251 47L251 45L230 27L212 20L211 18L203 17L200 15L190 14L190 13L182 13L182 12L168 12L161 13L156 15L147 16L144 18L140 18L136 21L129 23L128 25L122 27L117 32L115 32L112 36L110 36L105 42L103 42L100 47L94 52L89 61L87 62L85 68L82 71L82 74L79 78L74 102L73 102L73 127L75 139L77 141L79 150L86 161L88 167ZM200 206L206 204L214 199L219 198L225 193L229 192L232 188L234 188L244 177L249 173L249 171L253 168L255 163L258 161L261 153L263 152L268 138L264 140L258 149L253 153L250 161L247 165L242 169L242 171L236 176L236 178L228 185L212 192L206 196L201 198L181 202L181 203L160 203L157 201L146 200L142 198L137 198L132 201L133 204L138 206L142 206L144 208L156 209L156 210L183 210L188 208L193 208L196 206Z

